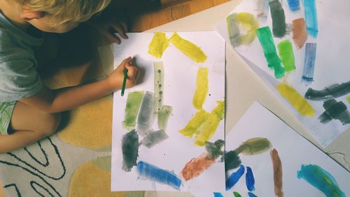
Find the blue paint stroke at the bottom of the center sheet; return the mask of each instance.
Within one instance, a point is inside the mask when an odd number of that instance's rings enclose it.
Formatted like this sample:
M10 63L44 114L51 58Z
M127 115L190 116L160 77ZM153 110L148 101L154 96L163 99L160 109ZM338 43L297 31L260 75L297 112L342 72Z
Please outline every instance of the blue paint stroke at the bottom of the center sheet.
M145 161L137 163L137 173L139 173L139 177L167 184L177 190L180 189L181 180L173 172L163 170Z

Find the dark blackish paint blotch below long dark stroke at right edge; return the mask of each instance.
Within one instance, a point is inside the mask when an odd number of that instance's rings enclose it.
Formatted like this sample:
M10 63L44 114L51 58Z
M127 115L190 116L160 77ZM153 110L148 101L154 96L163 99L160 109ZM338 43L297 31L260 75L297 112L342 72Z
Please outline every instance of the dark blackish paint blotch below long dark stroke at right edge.
M337 119L342 124L350 124L350 113L347 110L347 106L342 101L335 101L335 99L330 99L323 103L323 108L325 108L325 112L323 112L318 119L321 123L327 124L332 119Z

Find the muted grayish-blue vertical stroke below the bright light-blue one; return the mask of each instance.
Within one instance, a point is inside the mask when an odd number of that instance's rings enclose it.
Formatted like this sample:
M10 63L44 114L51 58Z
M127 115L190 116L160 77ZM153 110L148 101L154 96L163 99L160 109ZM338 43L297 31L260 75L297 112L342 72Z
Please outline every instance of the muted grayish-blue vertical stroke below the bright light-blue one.
M314 81L314 68L316 60L316 43L305 44L304 68L302 70L302 82L307 85Z

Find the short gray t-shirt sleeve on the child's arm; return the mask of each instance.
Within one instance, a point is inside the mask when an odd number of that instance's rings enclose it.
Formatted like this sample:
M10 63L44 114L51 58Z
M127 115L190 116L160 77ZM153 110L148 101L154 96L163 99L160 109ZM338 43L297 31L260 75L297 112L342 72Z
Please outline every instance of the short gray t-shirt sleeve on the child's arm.
M43 87L34 62L26 59L0 63L0 102L33 96Z

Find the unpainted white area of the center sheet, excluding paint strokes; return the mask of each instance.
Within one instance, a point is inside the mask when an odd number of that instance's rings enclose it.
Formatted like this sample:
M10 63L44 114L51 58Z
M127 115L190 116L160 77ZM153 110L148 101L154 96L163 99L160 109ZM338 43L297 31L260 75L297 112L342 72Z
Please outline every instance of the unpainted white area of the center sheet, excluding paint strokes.
M144 145L139 147L137 161L146 161L159 168L172 171L179 176L181 170L190 159L206 152L204 147L195 146L193 138L188 138L179 133L197 110L193 107L192 99L195 93L197 71L200 67L209 68L209 96L204 103L204 110L211 112L217 103L225 101L225 41L215 31L203 32L178 32L182 38L200 46L207 61L197 64L182 54L174 45L165 50L161 59L156 59L148 54L148 45L151 43L153 33L128 34L128 40L121 45L113 45L115 67L124 58L132 56L142 71L141 83L130 89L125 89L125 95L120 96L120 91L113 96L113 136L112 136L112 191L137 191L157 190L176 191L165 184L159 184L150 180L139 179L136 166L131 172L122 170L122 136L127 133L123 129L122 122L125 115L127 95L134 91L153 92L153 62L164 63L164 93L163 105L173 108L172 115L167 125L169 138L162 143L148 149ZM172 32L166 33L167 38ZM158 130L157 120L153 124L154 131ZM139 136L139 140L143 137ZM224 138L224 120L218 126L211 142ZM199 177L187 182L182 182L180 191L213 191L223 189L225 185L225 173L223 163L214 163Z

